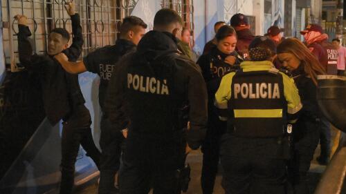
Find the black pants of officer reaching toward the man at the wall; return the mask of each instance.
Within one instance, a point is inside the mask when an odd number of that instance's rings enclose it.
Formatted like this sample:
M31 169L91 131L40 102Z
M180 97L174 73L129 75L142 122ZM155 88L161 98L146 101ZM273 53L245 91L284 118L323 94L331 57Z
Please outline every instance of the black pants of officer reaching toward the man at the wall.
M102 155L100 158L100 184L98 186L99 194L113 193L114 175L120 167L121 145L125 139L119 131L113 131L110 128L109 119L101 119L100 147Z

